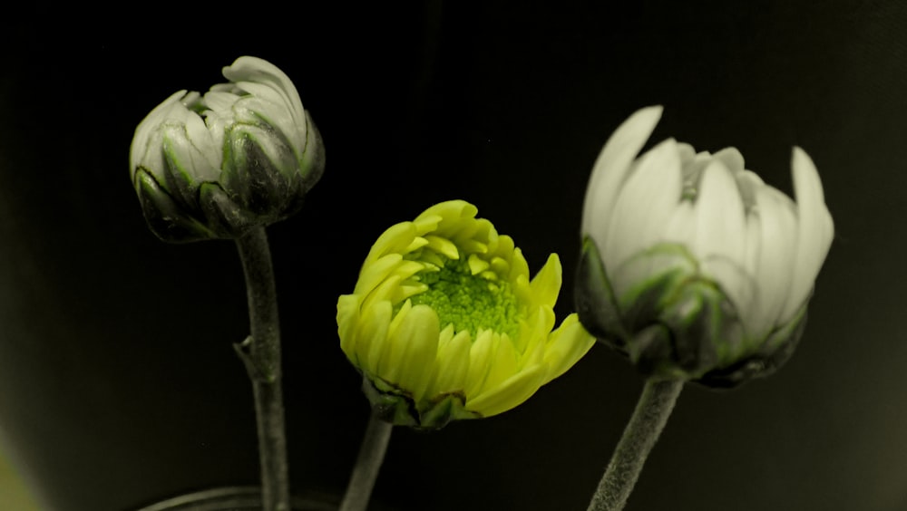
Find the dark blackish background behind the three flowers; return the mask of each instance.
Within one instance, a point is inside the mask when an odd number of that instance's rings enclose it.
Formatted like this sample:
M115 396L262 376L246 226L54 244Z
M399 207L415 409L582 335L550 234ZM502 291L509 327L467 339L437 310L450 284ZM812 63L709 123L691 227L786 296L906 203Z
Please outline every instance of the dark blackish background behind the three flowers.
M118 511L257 480L230 347L248 329L236 250L161 243L128 178L145 114L251 54L296 82L327 147L306 206L269 229L297 492L339 495L366 423L335 314L375 237L469 200L533 270L561 255L562 317L592 162L658 103L653 140L734 145L787 193L805 148L836 236L791 362L738 390L688 387L627 509L907 510L907 4L385 4L0 22L0 429L47 506ZM641 384L597 346L501 416L395 429L375 499L585 509Z

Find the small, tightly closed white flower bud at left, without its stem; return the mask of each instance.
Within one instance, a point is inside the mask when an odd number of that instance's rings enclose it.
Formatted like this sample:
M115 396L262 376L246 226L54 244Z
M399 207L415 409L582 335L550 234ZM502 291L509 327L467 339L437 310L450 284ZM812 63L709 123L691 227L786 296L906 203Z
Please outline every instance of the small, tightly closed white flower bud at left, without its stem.
M139 123L130 177L165 241L236 238L294 214L324 169L324 146L293 82L239 57L229 83L180 91Z

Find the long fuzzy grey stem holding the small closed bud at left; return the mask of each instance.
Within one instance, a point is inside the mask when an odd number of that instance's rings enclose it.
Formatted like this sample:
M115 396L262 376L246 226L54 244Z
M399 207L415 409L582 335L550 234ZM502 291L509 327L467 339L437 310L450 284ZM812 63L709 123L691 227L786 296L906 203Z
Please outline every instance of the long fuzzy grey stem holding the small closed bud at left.
M235 344L249 371L258 425L261 504L268 511L289 511L287 433L280 387L280 325L274 267L264 227L236 240L246 276L250 335Z

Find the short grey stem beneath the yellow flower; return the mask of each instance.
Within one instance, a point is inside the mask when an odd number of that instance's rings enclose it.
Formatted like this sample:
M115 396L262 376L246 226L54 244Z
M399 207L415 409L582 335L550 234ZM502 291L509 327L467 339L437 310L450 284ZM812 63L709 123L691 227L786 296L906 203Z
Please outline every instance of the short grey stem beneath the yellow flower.
M350 476L349 485L346 486L346 495L340 504L340 511L366 511L368 500L372 497L372 488L375 487L375 479L378 477L381 463L385 460L387 443L391 439L393 429L393 424L378 419L374 412L368 419L366 435L362 439L356 467L353 468L353 475Z

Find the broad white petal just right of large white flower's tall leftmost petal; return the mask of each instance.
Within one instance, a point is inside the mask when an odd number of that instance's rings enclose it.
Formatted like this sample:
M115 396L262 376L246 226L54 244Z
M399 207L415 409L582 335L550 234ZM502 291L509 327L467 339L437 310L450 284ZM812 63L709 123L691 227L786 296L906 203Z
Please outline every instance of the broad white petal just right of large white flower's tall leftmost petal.
M599 246L606 269L614 272L631 255L661 241L682 186L675 140L661 142L639 159L617 198L607 241Z

